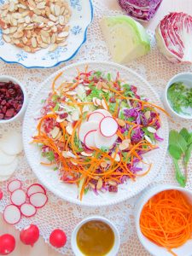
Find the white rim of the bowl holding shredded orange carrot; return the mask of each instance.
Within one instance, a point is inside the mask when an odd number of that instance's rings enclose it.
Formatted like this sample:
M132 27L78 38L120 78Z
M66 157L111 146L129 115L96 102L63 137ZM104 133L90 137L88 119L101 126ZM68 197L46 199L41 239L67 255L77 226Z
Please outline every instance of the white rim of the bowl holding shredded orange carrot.
M142 237L143 235L142 235L142 231L140 229L140 224L139 224L140 223L141 212L143 210L144 205L148 202L148 200L150 198L152 198L154 195L159 194L162 191L171 190L171 189L176 189L176 190L188 193L189 195L192 196L192 192L189 191L188 189L178 187L177 185L166 185L166 184L162 185L162 184L159 184L159 185L152 186L148 190L145 190L143 195L141 195L141 198L137 201L137 204L136 204L136 207L135 207L135 224L136 224L137 236L139 238L139 241L142 243L143 247L145 247L146 250L148 251L148 253L151 253L154 256L155 256L154 251L151 250L150 247L147 247L145 242L143 241L143 237ZM147 237L146 237L146 239L148 240ZM172 255L172 254L170 253L170 255ZM190 255L188 255L188 256L190 256Z

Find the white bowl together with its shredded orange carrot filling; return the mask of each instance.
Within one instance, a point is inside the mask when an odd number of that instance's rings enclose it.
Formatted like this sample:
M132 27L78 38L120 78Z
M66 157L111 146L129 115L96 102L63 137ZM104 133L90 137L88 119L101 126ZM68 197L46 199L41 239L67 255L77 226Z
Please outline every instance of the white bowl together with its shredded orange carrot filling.
M139 240L155 256L191 256L192 192L173 185L148 189L136 207Z

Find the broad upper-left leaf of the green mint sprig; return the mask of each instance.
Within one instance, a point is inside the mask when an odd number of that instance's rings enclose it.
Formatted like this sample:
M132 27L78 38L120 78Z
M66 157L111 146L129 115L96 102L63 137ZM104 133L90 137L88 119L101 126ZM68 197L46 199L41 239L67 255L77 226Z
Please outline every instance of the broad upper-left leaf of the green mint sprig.
M169 133L169 145L177 146L177 148L180 148L183 153L187 149L187 143L185 139L175 130L172 130Z

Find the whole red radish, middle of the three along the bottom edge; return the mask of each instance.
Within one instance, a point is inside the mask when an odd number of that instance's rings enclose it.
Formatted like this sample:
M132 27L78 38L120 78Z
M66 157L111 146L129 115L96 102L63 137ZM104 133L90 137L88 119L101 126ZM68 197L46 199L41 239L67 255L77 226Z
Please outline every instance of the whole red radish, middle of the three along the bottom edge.
M36 241L38 241L39 230L38 227L34 224L26 226L23 230L20 231L20 241L26 245L33 246Z

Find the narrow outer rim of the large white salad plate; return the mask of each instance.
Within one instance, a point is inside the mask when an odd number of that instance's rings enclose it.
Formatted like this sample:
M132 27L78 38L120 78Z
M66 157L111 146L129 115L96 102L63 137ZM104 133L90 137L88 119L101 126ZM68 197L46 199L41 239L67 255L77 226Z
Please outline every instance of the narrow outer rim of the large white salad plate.
M49 80L54 79L57 74L59 74L61 72L64 72L64 71L66 71L69 68L75 68L75 67L78 67L80 65L84 65L84 66L88 65L89 66L91 64L93 64L93 65L94 64L97 64L97 65L101 64L101 65L106 65L108 67L112 66L112 67L115 67L115 68L118 68L118 69L124 69L125 71L128 71L128 72L134 74L135 76L137 76L137 78L141 79L143 81L143 84L148 84L148 82L145 79L143 79L140 75L138 75L136 72L134 72L133 70L131 70L128 67L119 65L117 63L113 63L111 61L81 61L81 62L78 62L78 63L74 63L72 65L63 67L60 70L58 70L57 72L55 72L52 75L50 75L49 78L46 79L38 87L36 92L33 94L31 102L33 101L33 99L36 98L37 95L39 95L39 92L44 88L44 84L48 84ZM154 91L153 87L150 84L148 84L148 88L150 88L150 90L153 91L153 94L159 99L159 102L160 102L160 96L158 96L158 94ZM161 102L161 104L162 104L162 102ZM101 206L102 207L106 207L106 206L111 206L111 205L114 205L114 204L117 204L119 202L125 201L125 200L131 198L132 196L135 196L135 195L139 194L143 189L145 189L148 186L149 183L151 183L154 180L154 177L156 177L157 174L160 172L160 167L163 165L163 161L164 161L164 159L166 157L166 150L164 150L164 152L161 154L160 163L159 163L159 166L157 168L157 171L153 172L150 175L150 177L148 177L148 182L147 183L142 184L139 188L137 188L137 191L133 191L131 193L126 193L125 196L120 197L118 199L114 199L113 202L111 202L111 201L109 201L109 202L108 201L100 201L99 203L94 203L94 205L92 205L92 204L90 204L89 202L86 202L86 201L85 202L84 201L79 201L77 198L68 198L67 195L62 194L60 191L53 189L53 187L49 183L49 181L43 180L42 177L39 175L38 171L36 170L36 168L34 167L33 163L32 163L32 160L30 158L30 152L27 150L28 143L26 142L26 128L27 128L27 114L28 114L28 112L30 113L30 102L28 104L28 108L26 109L26 114L25 114L25 118L24 118L24 122L23 122L22 135L23 135L23 143L24 143L24 150L25 150L25 154L26 154L26 159L27 159L29 165L32 167L32 171L38 177L40 182L43 183L44 186L47 189L49 189L52 193L54 193L55 195L59 196L63 200L70 201L70 202L75 203L75 204L80 205L80 206L86 206L86 207L101 207ZM168 121L167 121L166 115L164 115L163 122L165 123L166 131L168 133ZM168 147L168 139L166 140L166 148L167 147Z

